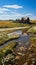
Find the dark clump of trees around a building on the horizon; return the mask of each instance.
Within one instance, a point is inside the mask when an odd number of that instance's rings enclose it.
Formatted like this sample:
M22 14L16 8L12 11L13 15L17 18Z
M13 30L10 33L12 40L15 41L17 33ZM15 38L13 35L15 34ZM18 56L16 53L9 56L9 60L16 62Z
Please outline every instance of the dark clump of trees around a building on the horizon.
M13 21L15 23L23 23L23 24L35 24L35 22L31 22L29 17L22 17L21 19L9 20L9 21Z

